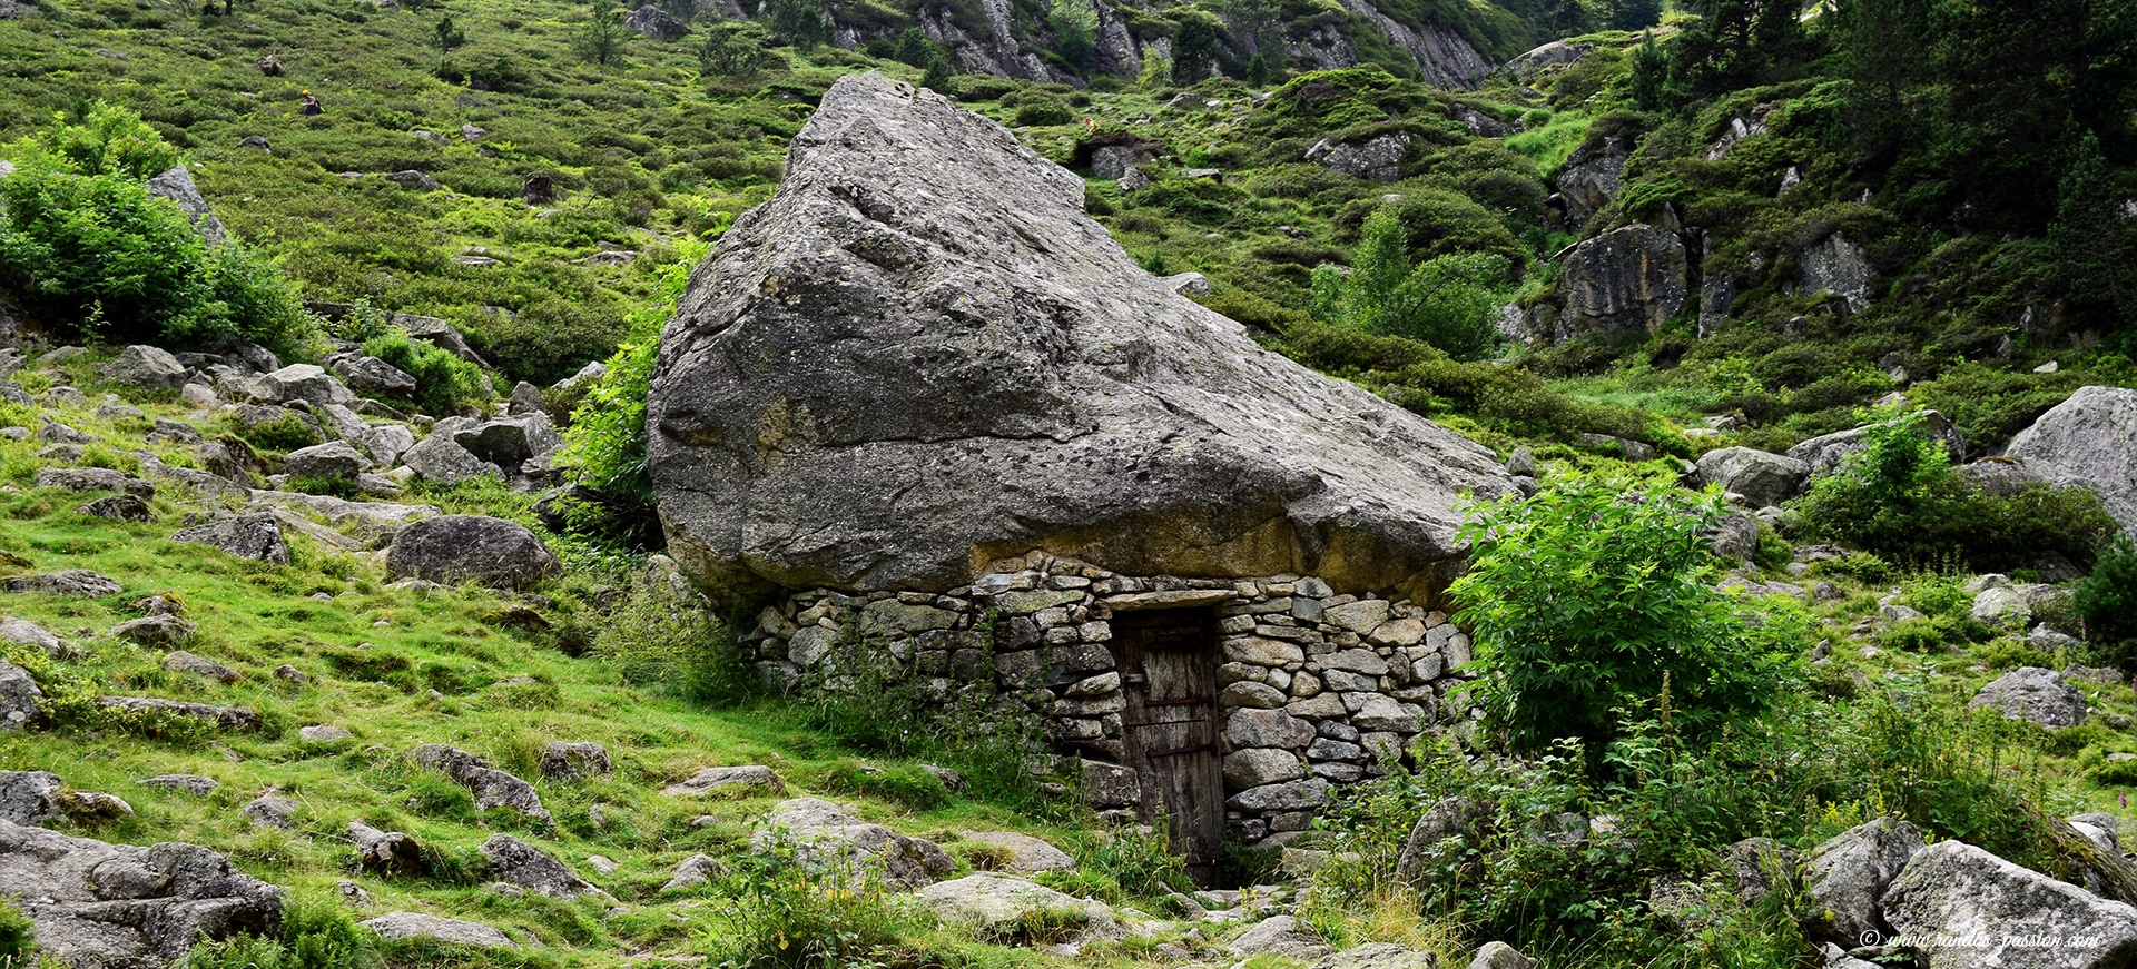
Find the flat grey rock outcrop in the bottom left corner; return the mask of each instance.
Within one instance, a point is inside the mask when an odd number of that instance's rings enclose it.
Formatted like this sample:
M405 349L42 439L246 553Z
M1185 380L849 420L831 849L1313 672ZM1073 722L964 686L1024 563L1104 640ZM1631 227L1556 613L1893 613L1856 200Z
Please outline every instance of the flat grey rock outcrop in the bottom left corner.
M282 890L207 847L107 845L0 820L0 886L41 952L73 967L162 967L199 939L282 931Z

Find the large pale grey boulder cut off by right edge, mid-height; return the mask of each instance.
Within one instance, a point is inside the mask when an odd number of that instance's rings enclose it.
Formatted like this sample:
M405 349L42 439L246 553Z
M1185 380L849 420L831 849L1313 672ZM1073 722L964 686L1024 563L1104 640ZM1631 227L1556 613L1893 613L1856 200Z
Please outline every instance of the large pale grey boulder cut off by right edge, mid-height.
M2084 484L2137 538L2137 391L2081 386L2011 438L2005 455L2058 484Z

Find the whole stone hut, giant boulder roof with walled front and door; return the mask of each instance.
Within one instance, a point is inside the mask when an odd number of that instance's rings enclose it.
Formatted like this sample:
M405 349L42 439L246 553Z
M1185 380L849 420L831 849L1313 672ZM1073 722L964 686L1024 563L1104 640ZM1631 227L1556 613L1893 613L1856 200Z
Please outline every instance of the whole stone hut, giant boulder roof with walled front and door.
M1049 717L1083 792L1304 830L1442 717L1460 506L1496 457L1145 273L1007 128L840 79L660 339L669 551L767 677L893 657Z

